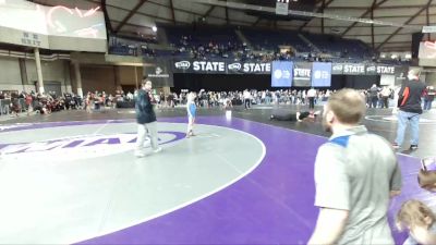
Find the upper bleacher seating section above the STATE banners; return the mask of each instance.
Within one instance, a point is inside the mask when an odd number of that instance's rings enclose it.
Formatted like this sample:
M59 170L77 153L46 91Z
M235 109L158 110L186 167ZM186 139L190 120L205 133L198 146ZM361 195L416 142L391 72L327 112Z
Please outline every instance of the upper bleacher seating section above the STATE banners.
M159 44L162 49L152 49L147 42L110 37L109 53L118 56L143 56L161 58L228 58L253 59L258 53L278 56L279 47L291 47L291 58L360 62L375 57L375 52L361 40L343 39L331 35L243 28L241 34L249 44L243 44L234 27L210 26L160 26L167 35L168 44ZM249 49L249 45L251 49ZM275 54L276 53L276 54ZM255 59L259 59L258 56ZM261 58L262 59L262 58ZM289 59L289 58L287 58Z

